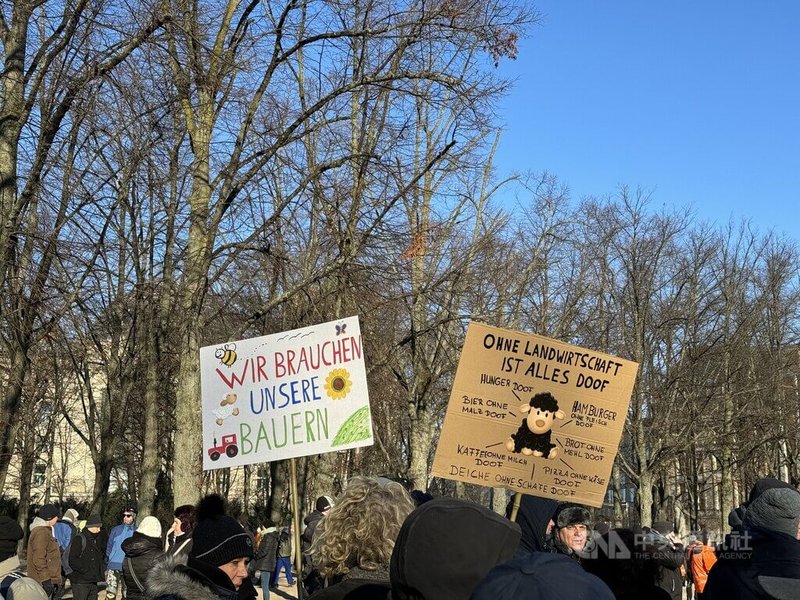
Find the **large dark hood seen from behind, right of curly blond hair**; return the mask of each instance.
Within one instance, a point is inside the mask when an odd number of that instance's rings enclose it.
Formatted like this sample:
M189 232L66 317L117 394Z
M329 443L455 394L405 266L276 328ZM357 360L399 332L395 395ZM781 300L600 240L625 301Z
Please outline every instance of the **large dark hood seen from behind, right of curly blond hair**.
M519 545L519 525L455 498L435 498L403 523L392 551L392 600L467 600Z

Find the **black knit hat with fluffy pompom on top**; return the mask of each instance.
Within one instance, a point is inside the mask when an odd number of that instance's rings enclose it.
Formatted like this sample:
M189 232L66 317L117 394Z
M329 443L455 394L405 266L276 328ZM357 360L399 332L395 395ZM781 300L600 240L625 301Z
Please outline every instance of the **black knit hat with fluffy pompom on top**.
M189 555L215 567L234 558L253 557L253 540L236 519L225 514L225 503L216 494L206 496L197 505L197 525Z

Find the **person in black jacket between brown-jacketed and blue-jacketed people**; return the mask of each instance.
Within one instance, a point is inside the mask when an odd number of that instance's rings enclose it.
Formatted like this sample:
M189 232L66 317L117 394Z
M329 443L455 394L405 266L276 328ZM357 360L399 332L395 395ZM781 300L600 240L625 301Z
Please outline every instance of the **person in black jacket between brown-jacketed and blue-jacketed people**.
M83 531L75 534L69 547L69 575L74 600L96 600L97 584L105 579L106 536L100 515L90 515Z

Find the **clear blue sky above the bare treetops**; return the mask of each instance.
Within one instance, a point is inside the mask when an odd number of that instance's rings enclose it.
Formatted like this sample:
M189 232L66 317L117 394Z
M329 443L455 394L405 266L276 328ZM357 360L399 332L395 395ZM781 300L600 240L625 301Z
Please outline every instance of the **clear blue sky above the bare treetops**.
M800 2L538 0L499 72L498 175L620 185L800 243Z

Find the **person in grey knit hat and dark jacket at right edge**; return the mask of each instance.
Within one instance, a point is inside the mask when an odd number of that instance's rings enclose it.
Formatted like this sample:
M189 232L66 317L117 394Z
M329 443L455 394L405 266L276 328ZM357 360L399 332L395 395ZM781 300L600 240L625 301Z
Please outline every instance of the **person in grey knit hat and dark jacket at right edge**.
M703 600L800 598L800 492L774 487L748 504L736 551L723 552Z

